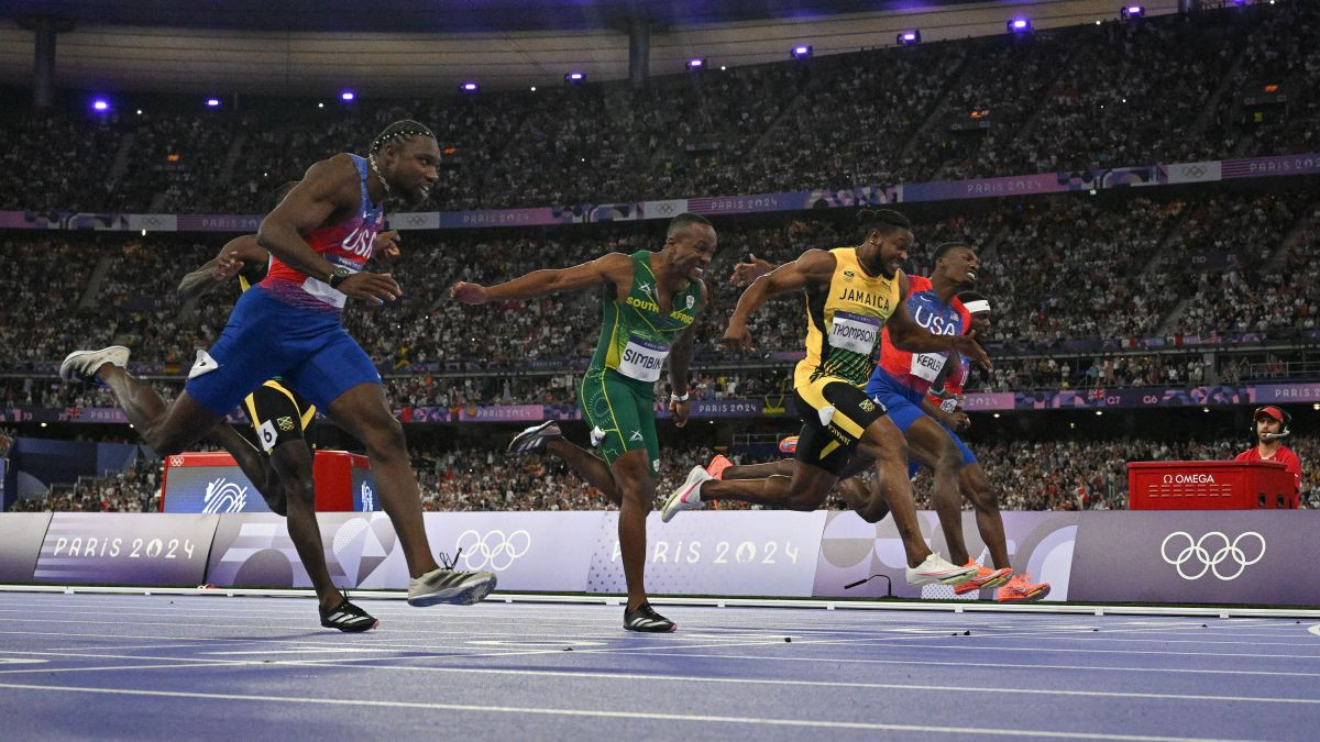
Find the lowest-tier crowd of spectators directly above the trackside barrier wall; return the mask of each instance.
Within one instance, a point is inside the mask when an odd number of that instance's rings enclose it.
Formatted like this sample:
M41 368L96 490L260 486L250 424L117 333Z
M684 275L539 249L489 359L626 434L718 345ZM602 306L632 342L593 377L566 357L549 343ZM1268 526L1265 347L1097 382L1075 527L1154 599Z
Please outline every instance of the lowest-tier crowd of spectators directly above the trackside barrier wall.
M977 457L999 492L1003 510L1123 510L1127 507L1129 461L1225 461L1245 449L1241 437L1164 441L1053 440L994 441L977 445ZM1303 461L1302 503L1320 507L1320 438L1296 437L1287 445ZM688 471L710 459L704 448L665 449L656 491L660 496L682 483ZM754 458L731 454L739 463ZM412 452L422 507L432 511L479 510L612 510L599 490L581 481L553 457L507 457L494 449ZM870 477L867 474L866 477ZM140 512L158 508L158 463L145 459L120 474L57 489L48 498L18 500L16 510ZM931 474L919 473L917 507L931 508ZM719 503L717 507L742 507ZM830 510L846 510L832 495ZM965 504L964 507L970 507Z

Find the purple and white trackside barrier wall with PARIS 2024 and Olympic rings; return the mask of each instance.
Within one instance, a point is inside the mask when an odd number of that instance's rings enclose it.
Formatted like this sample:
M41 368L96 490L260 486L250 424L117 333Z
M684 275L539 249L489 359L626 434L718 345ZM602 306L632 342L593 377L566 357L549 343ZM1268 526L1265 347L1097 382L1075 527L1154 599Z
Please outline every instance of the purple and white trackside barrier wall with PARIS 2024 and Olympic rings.
M919 514L945 551L933 512ZM318 515L334 581L404 589L408 572L380 512ZM1051 582L1049 601L1193 605L1320 605L1308 580L1316 511L1115 511L1003 514L1012 564ZM618 514L428 512L434 549L499 589L620 593ZM989 561L964 514L973 557ZM688 512L647 522L647 584L656 594L954 599L952 588L911 588L891 519L851 512ZM845 585L875 577L854 589ZM282 519L268 514L0 514L0 581L55 585L306 588ZM989 595L982 595L989 597ZM975 599L964 595L960 599Z

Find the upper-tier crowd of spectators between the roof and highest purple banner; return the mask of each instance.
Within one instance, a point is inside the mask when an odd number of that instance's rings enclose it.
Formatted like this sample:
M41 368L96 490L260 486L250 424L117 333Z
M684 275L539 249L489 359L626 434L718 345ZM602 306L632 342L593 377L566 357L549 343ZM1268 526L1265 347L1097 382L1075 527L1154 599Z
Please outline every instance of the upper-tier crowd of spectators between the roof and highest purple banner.
M351 106L253 98L234 111L15 112L0 123L0 139L15 144L0 209L257 213L276 185L329 153L363 152L400 118L429 124L442 145L441 181L421 207L432 210L1313 151L1317 18L1315 3L1291 0L657 77L640 90L602 83ZM1265 112L1246 106L1243 91L1262 84L1280 84L1287 102Z

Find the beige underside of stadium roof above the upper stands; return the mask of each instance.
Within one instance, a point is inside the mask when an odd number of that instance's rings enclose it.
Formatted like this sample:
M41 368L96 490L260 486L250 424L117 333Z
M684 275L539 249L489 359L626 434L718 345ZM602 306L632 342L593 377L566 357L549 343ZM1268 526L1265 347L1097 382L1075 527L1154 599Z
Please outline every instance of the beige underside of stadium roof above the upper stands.
M32 84L36 18L58 21L55 84L103 91L359 98L548 86L569 71L628 78L628 30L649 74L1117 18L1114 0L5 0L0 83Z

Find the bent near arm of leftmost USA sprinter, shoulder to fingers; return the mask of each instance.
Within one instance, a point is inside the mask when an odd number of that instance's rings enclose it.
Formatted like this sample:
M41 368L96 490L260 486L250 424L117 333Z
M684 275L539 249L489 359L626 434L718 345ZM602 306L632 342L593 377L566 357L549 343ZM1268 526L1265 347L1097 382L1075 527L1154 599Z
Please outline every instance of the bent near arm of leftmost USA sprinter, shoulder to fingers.
M362 209L362 180L352 158L335 154L308 169L302 181L261 220L257 244L294 271L329 281L335 265L317 255L302 235L338 223ZM354 298L393 301L403 289L389 273L360 271L339 284Z

